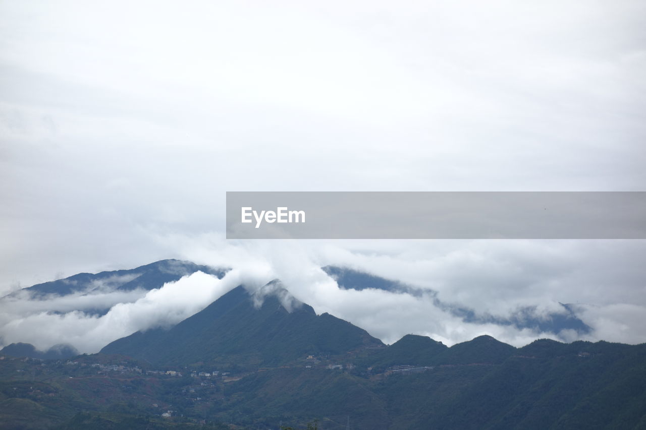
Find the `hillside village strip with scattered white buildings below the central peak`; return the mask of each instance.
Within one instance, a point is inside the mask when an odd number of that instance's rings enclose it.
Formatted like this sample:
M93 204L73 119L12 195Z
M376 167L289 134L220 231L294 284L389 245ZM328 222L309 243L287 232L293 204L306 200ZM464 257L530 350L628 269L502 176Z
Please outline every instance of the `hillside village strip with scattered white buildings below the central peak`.
M101 362L96 361L101 358ZM356 370L353 363L334 363L323 357L307 356L301 362L293 365L282 365L276 368L264 367L255 373L266 373L276 369L308 369L320 371L352 372ZM433 367L415 367L413 365L397 365L389 367L382 376L391 374L415 374L429 371ZM371 369L368 369L370 373ZM170 418L182 416L187 406L204 406L213 402L224 402L226 399L225 384L238 381L254 372L234 373L214 369L147 369L144 364L134 362L124 357L104 357L82 355L73 360L41 360L38 358L16 358L0 356L0 376L2 380L15 382L47 382L52 389L43 391L38 385L30 385L30 389L18 391L26 398L38 398L47 395L57 396L63 393L65 387L74 387L89 391L90 397L114 398L114 392L129 394L136 398L138 404L144 406L152 415ZM109 381L109 382L107 382ZM162 394L155 390L147 390L147 386L167 385L172 389L163 390ZM59 387L60 389L56 389ZM24 388L24 387L23 387ZM117 396L118 398L118 396ZM178 415L179 414L179 415Z

